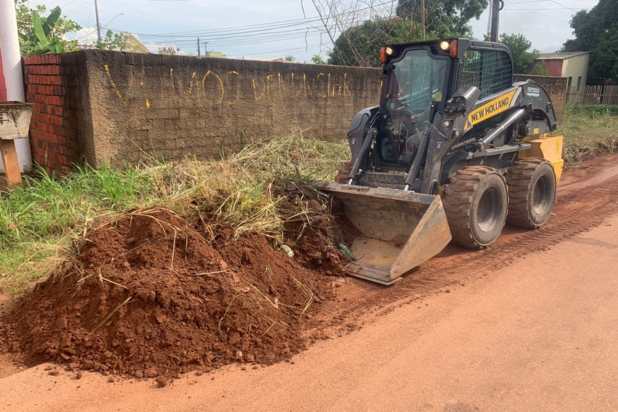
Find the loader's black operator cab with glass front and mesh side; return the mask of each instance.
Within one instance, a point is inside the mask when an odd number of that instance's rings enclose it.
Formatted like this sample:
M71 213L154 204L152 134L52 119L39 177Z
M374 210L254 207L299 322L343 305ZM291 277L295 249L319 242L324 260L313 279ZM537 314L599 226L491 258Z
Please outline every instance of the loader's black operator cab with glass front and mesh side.
M479 87L482 99L513 82L510 52L499 43L460 38L390 45L380 49L380 60L376 171L407 170L435 114L460 87Z

